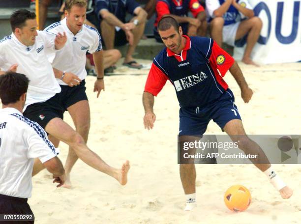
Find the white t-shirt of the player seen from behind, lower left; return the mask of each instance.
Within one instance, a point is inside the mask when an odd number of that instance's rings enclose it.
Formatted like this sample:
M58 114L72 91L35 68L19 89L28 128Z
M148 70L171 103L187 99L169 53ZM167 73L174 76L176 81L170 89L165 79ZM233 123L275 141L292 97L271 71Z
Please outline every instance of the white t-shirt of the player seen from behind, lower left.
M42 163L59 154L36 122L14 108L0 110L0 194L31 196L33 158Z

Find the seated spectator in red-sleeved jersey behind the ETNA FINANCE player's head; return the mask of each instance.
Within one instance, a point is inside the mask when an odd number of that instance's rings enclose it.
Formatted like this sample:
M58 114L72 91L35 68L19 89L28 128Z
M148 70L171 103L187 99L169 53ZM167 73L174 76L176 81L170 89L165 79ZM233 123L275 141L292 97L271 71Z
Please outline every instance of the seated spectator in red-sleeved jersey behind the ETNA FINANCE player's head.
M189 10L194 18L188 17ZM164 16L172 16L175 18L185 35L206 35L206 13L198 0L158 0L156 13L157 18L154 23L154 37L159 42L162 42L162 40L157 31L157 24Z

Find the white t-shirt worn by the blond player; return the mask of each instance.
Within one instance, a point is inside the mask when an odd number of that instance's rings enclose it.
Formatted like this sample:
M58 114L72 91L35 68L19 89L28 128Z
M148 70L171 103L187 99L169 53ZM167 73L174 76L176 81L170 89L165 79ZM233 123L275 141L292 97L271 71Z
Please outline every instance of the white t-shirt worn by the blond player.
M83 28L74 35L67 27L66 18L44 29L47 32L58 34L66 32L67 42L60 51L55 53L52 66L60 71L72 72L81 80L87 77L86 52L90 54L102 50L101 37L95 28L84 24ZM57 79L60 85L67 85Z

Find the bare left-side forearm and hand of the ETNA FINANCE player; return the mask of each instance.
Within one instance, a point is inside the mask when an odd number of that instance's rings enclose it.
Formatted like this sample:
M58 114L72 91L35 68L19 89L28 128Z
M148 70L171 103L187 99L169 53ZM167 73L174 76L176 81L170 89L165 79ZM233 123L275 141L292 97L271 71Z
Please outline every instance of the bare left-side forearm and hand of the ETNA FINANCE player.
M142 101L145 111L143 118L144 127L150 130L153 128L153 123L156 120L156 115L153 113L154 96L149 92L143 92Z

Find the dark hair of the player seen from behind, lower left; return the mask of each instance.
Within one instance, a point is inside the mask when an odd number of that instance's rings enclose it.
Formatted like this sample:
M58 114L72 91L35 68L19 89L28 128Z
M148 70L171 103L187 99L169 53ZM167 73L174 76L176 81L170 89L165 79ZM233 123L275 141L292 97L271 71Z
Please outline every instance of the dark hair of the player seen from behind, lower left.
M6 72L0 75L0 98L3 105L16 103L27 92L29 79L20 73Z

